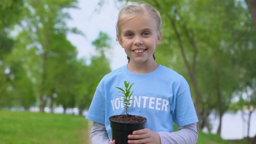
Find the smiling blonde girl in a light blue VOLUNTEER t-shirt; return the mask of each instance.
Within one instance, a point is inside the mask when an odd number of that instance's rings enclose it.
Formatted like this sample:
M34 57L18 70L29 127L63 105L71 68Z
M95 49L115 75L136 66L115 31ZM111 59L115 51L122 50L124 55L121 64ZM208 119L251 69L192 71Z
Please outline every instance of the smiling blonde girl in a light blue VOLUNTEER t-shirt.
M128 5L118 14L116 30L128 65L105 75L96 88L86 116L94 121L92 144L115 144L108 118L125 114L115 88L122 87L125 80L135 83L129 113L148 119L144 129L128 135L128 144L196 143L198 119L189 85L177 72L155 61L162 36L159 12L148 3ZM179 126L177 132L173 132L173 123Z

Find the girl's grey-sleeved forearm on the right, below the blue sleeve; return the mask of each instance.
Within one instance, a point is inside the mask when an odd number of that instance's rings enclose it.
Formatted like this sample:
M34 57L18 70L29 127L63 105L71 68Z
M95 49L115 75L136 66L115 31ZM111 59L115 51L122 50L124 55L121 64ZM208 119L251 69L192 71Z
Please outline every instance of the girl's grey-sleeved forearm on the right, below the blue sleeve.
M158 132L161 144L195 144L198 139L197 123L188 124L176 132Z

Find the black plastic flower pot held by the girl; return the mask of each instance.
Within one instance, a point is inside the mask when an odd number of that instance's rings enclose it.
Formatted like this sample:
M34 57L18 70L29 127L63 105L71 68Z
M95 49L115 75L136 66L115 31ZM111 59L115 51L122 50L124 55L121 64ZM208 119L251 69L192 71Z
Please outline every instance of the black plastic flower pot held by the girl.
M133 131L144 128L144 124L147 122L146 118L145 121L141 122L121 122L112 120L111 117L109 117L109 121L112 131L112 140L115 140L115 144L128 144L128 135L132 134Z

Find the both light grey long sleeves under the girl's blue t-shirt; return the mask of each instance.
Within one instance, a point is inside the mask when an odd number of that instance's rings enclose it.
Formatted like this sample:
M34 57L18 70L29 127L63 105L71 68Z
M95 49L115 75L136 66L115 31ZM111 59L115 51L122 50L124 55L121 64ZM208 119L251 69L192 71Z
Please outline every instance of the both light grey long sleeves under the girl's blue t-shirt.
M158 132L161 144L195 144L198 139L197 124L188 124L179 127L176 132ZM93 122L91 131L92 144L109 144L111 140L108 137L105 125Z

